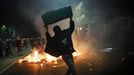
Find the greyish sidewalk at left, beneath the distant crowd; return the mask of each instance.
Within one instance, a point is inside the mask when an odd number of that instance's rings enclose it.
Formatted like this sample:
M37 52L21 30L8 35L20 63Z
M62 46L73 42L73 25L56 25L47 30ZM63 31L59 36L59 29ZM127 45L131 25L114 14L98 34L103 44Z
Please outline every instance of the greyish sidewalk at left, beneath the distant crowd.
M16 49L14 49L12 56L4 56L0 58L0 74L2 74L5 70L15 64L20 58L26 56L29 52L29 49L24 49L22 51L23 56L18 56Z

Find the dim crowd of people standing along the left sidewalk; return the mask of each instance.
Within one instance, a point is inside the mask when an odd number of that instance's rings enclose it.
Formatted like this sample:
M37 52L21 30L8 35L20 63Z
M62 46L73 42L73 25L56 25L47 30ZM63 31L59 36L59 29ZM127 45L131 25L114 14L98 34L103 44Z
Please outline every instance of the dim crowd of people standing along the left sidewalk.
M33 45L33 39L30 38L0 38L0 57L13 55L22 56L22 51L31 48Z

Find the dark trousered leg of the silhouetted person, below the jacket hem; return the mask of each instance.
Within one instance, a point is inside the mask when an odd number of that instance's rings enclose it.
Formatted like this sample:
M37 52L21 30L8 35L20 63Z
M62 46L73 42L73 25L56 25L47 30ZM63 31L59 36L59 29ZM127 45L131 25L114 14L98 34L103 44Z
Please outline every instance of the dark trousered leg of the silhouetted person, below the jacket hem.
M74 62L73 62L72 54L63 55L62 58L68 66L68 71L66 72L66 75L69 75L69 74L77 75L76 71L75 71L75 68L74 68Z

